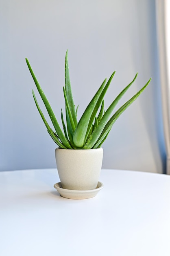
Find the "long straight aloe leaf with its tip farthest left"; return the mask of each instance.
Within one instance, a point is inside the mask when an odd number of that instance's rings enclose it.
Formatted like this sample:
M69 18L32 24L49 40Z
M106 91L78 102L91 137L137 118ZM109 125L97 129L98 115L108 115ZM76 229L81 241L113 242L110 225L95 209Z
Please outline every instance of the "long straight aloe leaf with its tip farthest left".
M29 70L30 70L30 73L31 73L31 75L32 75L32 77L33 77L33 80L34 80L34 82L35 82L35 85L36 85L36 87L37 87L37 90L38 90L38 92L39 92L39 94L40 94L40 96L41 96L41 99L42 99L43 102L44 102L44 105L45 105L45 107L46 107L46 110L47 110L47 112L48 112L48 115L50 116L50 119L51 119L51 121L52 121L52 124L53 124L53 126L54 126L54 128L55 128L55 130L56 130L56 132L57 132L57 135L59 136L59 138L61 139L62 144L63 144L66 148L71 148L71 146L70 146L68 140L67 140L67 139L65 138L65 136L63 135L63 132L62 132L62 130L61 130L59 124L58 124L58 121L57 121L57 119L56 119L56 117L55 117L55 115L54 115L54 112L52 111L52 108L51 108L51 106L50 106L50 104L49 104L49 102L48 102L48 100L47 100L47 98L46 98L46 96L45 96L43 90L41 89L41 86L39 85L39 82L38 82L38 80L37 80L37 78L36 78L36 76L35 76L35 74L34 74L34 72L33 72L33 70L32 70L32 67L31 67L31 65L30 65L30 63L29 63L29 61L28 61L27 58L26 58L26 63L27 63L27 65L28 65L28 68L29 68Z

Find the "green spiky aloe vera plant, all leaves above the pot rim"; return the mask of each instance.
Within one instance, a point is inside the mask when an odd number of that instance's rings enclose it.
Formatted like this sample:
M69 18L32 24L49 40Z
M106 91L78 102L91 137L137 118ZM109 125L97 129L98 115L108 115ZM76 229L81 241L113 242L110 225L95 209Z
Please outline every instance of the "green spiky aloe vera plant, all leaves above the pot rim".
M70 75L69 75L69 68L68 68L68 51L65 55L65 87L63 87L63 93L64 93L64 99L65 99L65 116L66 116L66 125L63 118L63 111L61 110L61 120L63 124L63 130L60 128L57 118L54 115L54 112L52 111L52 108L41 89L41 86L39 85L37 78L31 68L30 63L28 62L28 59L26 58L26 63L28 65L28 68L31 72L31 75L33 77L33 80L35 82L35 85L37 87L37 90L41 96L42 101L44 102L44 105L46 107L46 110L48 112L48 115L50 116L50 119L52 121L52 125L54 126L54 130L50 128L48 122L46 121L41 108L39 107L39 104L37 102L37 99L35 97L35 93L33 91L33 97L35 100L35 104L37 106L37 109L39 111L39 114L41 115L41 118L44 121L44 124L47 128L48 133L54 140L54 142L59 146L59 148L65 148L65 149L91 149L91 148L99 148L102 143L107 138L107 135L109 134L113 124L115 121L120 117L120 115L128 108L137 97L145 90L147 85L150 83L150 80L142 87L141 90L139 90L129 101L124 103L122 107L120 107L114 114L113 110L118 103L118 101L121 99L121 97L125 94L125 92L130 88L130 86L135 81L137 74L135 75L133 81L127 85L122 92L116 97L116 99L113 100L109 108L105 111L104 110L104 96L107 92L107 89L109 88L109 85L111 83L111 80L113 79L113 74L111 74L111 77L107 81L105 79L90 101L89 105L85 109L81 119L77 120L77 108L74 105L74 100L72 96L72 88L70 84Z

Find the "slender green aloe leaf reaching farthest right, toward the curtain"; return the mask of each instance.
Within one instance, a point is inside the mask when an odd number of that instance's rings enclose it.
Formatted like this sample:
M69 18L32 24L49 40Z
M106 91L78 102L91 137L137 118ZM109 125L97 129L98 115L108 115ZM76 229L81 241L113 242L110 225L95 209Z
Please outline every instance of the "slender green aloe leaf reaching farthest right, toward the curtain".
M126 108L128 108L133 103L133 101L135 101L139 97L139 95L144 91L144 89L150 83L150 80L151 80L151 78L148 80L146 85L144 85L144 87L142 87L142 89L139 90L139 92L137 92L131 99L129 99L129 101L127 101L121 108L119 108L116 111L116 113L111 117L111 119L106 124L105 128L103 129L99 139L97 140L97 142L93 148L98 148L98 146L102 144L103 139L105 138L105 136L108 135L109 131L111 130L113 124L116 122L118 117L120 117L120 115L124 112L124 110L126 110Z

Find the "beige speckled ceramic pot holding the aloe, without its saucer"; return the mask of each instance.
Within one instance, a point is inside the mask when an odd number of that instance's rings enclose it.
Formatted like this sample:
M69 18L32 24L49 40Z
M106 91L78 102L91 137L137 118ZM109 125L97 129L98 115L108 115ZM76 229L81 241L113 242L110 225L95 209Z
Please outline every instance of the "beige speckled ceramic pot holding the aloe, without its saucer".
M102 167L102 148L56 148L55 157L63 189L96 189Z

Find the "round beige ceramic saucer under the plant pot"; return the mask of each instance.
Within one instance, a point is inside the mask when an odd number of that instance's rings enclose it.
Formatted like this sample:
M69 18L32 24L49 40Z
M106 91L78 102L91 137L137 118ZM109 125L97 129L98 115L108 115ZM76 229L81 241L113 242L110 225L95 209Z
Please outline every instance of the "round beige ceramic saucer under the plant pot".
M98 182L96 189L91 190L72 190L72 189L63 189L61 182L54 184L54 188L60 193L63 198L69 199L87 199L93 198L97 193L103 188L102 182Z

